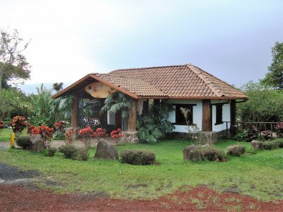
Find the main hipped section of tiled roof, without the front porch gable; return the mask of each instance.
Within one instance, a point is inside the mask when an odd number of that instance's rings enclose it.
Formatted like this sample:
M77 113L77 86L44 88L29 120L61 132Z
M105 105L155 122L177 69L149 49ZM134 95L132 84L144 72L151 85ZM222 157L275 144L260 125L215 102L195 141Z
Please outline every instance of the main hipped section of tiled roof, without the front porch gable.
M247 98L240 90L192 64L119 69L111 71L109 75L142 79L157 90L162 90L169 98Z

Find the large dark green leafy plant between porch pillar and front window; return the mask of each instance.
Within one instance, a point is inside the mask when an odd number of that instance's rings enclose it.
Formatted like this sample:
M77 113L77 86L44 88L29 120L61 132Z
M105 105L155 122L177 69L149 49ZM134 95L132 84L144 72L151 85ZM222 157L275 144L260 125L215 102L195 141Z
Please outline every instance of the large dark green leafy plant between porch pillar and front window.
M137 118L139 141L156 143L158 140L171 134L175 126L168 121L169 112L173 107L162 101L160 105L149 104L149 114L141 114Z

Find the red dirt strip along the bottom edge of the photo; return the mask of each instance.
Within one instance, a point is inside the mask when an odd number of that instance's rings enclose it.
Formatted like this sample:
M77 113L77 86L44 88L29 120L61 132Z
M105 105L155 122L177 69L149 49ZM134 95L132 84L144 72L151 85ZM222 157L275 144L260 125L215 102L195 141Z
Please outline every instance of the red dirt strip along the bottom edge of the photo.
M283 201L260 202L207 187L179 189L155 200L110 199L103 194L54 194L0 185L0 211L283 211Z

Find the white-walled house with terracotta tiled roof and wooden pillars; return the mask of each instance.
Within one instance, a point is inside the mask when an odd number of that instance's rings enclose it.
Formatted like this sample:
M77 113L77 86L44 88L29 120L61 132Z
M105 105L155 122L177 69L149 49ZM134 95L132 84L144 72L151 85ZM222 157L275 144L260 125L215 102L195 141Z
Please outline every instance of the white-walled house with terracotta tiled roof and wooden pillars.
M123 120L119 114L108 112L100 117L100 122L133 133L136 131L137 114L147 110L151 99L155 103L167 100L173 105L175 111L169 114L169 121L174 124L175 132L187 132L180 112L180 107L187 107L190 109L190 123L197 124L201 131L219 134L236 124L236 103L247 99L240 90L192 64L90 73L54 98L74 95L71 125L78 127L81 126L83 102L107 98L117 90L129 95L132 100L128 119Z

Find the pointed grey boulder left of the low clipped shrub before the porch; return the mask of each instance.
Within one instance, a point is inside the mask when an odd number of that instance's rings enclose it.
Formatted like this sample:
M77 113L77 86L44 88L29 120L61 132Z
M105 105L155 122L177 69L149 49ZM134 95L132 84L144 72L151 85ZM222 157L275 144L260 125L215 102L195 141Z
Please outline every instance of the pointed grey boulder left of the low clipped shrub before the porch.
M115 146L108 143L104 139L100 139L96 146L96 154L94 158L101 158L106 160L118 160L119 155Z

